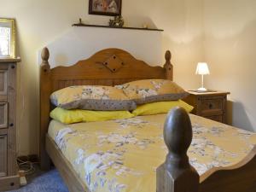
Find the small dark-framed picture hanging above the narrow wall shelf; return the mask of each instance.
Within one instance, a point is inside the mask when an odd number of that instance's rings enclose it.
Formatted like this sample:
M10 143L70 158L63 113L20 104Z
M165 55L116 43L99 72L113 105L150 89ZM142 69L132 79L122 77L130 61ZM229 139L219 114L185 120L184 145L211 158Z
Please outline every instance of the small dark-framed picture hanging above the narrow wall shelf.
M122 0L89 0L90 15L121 15Z

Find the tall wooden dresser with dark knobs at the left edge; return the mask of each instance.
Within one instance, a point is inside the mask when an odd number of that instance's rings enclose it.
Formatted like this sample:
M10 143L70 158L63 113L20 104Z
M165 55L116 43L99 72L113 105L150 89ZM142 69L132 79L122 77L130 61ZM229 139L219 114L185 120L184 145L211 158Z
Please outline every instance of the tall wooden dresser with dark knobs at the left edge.
M16 69L19 59L0 59L0 191L17 189Z

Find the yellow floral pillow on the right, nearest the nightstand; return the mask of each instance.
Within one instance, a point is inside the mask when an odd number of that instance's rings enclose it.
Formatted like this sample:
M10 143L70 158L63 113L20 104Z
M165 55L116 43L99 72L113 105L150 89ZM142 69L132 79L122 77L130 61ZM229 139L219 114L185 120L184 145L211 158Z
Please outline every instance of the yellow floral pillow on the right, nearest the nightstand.
M137 104L176 101L189 95L176 83L166 79L138 80L115 87L123 90Z

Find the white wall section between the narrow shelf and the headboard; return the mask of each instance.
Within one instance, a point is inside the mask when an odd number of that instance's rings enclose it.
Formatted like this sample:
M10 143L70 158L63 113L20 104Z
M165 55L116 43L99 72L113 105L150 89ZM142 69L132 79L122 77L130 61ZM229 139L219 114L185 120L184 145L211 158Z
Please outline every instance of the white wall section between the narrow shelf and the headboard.
M70 66L94 55L101 49L125 49L148 64L161 65L162 32L98 27L72 27L61 37L45 44L49 49L50 67ZM41 51L38 51L39 63Z

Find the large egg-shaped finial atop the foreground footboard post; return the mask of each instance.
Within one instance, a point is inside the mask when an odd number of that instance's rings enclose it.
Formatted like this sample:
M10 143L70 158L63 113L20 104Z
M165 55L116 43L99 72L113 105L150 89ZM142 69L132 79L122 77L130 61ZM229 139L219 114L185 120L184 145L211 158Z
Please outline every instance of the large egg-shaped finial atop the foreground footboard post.
M189 114L183 108L174 108L168 113L164 139L169 154L175 154L177 158L187 155L190 143L192 142L192 125Z

